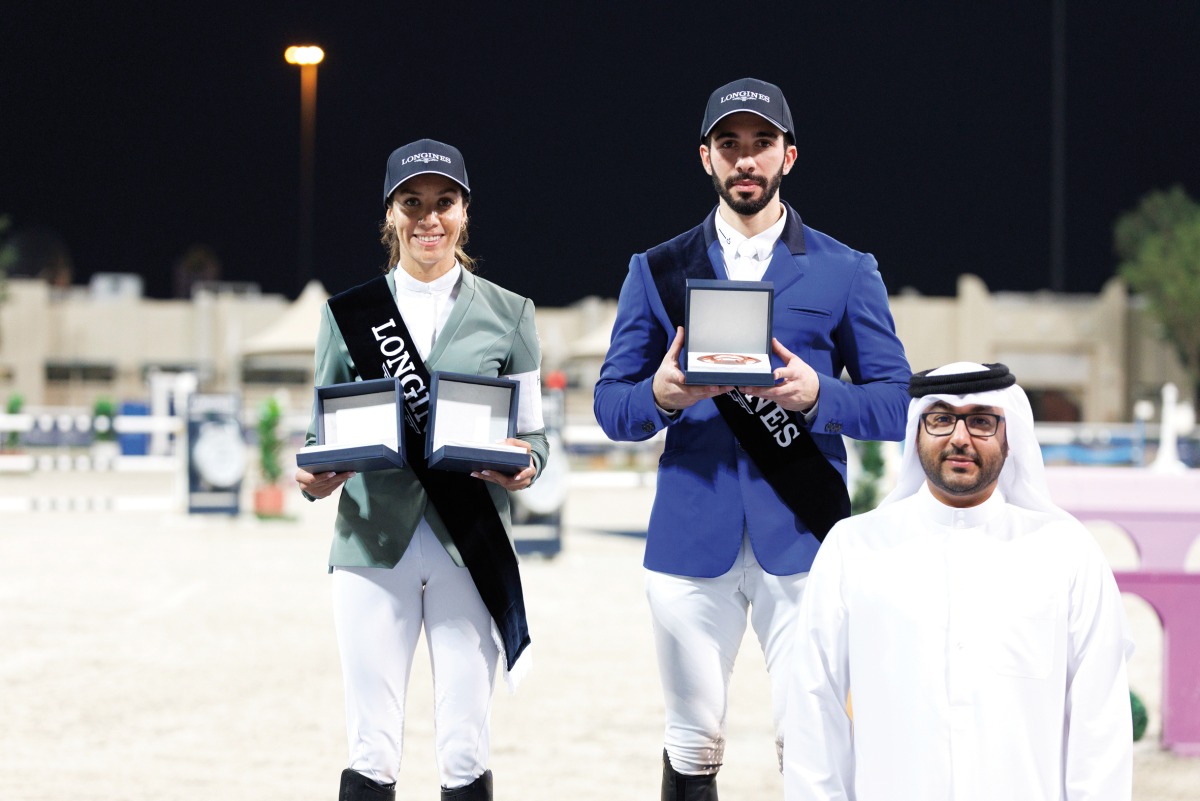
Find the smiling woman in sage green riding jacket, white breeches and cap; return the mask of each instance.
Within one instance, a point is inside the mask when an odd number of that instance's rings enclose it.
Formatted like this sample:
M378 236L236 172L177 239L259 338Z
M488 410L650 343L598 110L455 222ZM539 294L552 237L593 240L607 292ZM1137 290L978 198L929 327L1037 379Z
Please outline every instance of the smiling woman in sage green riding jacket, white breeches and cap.
M541 350L533 302L473 273L463 251L469 203L455 147L421 139L392 152L380 229L390 252L386 273L330 299L317 339L318 386L398 375L408 417L419 423L426 418L427 373L516 380L517 436L508 442L529 452L529 465L515 475L430 470L424 448L413 445L424 442L418 424L406 426L403 469L296 471L310 499L342 489L330 552L349 741L341 801L395 797L404 697L422 627L443 799L492 797L488 707L497 664L505 660L511 683L527 661L517 662L529 639L509 493L533 483L546 462ZM355 327L355 315L371 313L384 323ZM308 444L316 432L314 416Z

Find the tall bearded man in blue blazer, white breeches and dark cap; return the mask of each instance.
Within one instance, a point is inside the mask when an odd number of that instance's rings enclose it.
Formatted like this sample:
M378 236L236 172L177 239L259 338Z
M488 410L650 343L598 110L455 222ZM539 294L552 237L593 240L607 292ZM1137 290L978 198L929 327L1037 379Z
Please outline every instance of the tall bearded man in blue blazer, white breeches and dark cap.
M778 86L746 78L713 92L700 159L718 206L634 255L595 387L610 438L667 429L644 560L666 700L664 801L716 799L748 610L782 754L804 579L820 538L848 513L842 435L904 436L911 371L883 279L874 257L812 230L779 198L796 158ZM684 383L688 278L773 283L774 386Z

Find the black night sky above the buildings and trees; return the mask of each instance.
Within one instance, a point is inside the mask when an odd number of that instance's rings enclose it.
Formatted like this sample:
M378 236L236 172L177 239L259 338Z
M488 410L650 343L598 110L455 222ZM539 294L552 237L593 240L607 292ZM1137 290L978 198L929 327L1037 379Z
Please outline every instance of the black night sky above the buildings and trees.
M366 7L372 10L367 11ZM1064 289L1114 275L1116 216L1200 194L1200 4L1068 4ZM460 147L480 272L541 306L616 296L629 255L715 203L708 94L779 84L782 197L874 253L892 291L1050 287L1051 11L964 4L5 4L0 213L49 227L77 283L211 246L294 296L300 78L317 43L316 276L370 278L388 153Z

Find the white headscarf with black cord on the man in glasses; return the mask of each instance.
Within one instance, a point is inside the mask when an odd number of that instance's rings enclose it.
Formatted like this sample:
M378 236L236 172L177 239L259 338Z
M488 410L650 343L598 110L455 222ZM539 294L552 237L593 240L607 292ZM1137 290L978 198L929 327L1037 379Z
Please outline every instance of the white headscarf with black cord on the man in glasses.
M1050 500L1042 448L1033 432L1033 409L1007 367L954 362L913 375L908 395L913 398L908 403L908 424L905 429L899 478L895 489L880 506L908 498L925 483L925 469L917 451L917 426L920 424L920 414L941 401L952 406L984 405L1002 409L1008 458L1000 472L998 487L1004 500L1024 508L1070 517Z

